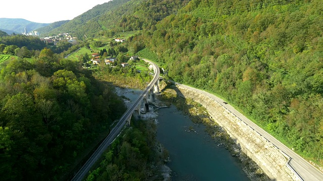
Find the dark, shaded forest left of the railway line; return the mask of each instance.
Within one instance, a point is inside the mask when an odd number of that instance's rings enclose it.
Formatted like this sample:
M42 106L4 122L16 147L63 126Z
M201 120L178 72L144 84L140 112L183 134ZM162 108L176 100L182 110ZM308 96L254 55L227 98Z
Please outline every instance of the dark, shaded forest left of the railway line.
M111 85L50 49L31 61L6 62L0 73L1 180L66 179L123 114L123 101Z

